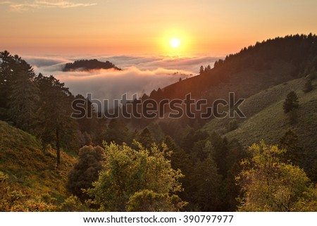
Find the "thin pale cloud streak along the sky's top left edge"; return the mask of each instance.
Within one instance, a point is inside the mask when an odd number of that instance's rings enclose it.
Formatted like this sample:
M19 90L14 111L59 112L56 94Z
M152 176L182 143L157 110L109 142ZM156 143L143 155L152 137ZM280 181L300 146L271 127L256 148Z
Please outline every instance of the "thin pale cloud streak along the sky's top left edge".
M8 5L11 11L21 12L41 8L74 8L94 6L95 3L78 3L64 0L33 0L33 1L4 1L0 4Z

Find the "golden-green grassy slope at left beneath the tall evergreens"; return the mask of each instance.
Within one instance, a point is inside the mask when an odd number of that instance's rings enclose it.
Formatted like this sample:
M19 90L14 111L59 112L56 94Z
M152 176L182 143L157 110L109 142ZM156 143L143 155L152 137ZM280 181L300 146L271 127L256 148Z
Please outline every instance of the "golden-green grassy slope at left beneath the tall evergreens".
M63 199L75 158L61 153L61 160L57 169L54 150L42 151L35 137L0 121L0 171L9 175L15 189L30 197L48 193Z

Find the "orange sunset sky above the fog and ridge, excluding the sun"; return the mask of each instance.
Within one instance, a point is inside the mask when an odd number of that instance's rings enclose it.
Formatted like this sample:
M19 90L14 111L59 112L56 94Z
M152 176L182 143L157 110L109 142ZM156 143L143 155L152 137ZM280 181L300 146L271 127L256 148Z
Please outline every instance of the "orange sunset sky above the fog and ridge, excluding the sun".
M0 30L12 54L221 55L317 33L317 1L2 0Z

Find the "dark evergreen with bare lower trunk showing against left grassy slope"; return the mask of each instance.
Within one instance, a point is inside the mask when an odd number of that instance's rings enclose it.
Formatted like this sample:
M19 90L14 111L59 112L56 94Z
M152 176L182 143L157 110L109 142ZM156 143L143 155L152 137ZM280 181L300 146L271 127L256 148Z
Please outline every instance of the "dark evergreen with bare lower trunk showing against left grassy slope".
M77 123L70 118L73 96L64 83L54 76L39 74L36 79L40 89L39 131L44 144L55 144L57 165L61 163L61 147L75 149Z

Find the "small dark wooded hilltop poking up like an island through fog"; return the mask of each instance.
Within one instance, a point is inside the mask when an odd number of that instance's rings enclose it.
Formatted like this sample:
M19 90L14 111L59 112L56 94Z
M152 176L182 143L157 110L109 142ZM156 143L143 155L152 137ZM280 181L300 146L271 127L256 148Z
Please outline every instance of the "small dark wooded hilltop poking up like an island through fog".
M79 60L74 61L73 63L66 63L63 71L86 71L86 70L99 70L99 69L114 69L121 70L116 65L111 63L110 61L101 62L97 59L93 60Z

